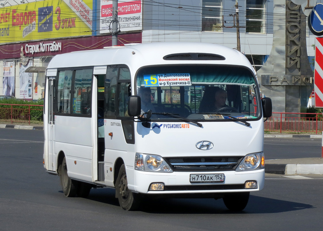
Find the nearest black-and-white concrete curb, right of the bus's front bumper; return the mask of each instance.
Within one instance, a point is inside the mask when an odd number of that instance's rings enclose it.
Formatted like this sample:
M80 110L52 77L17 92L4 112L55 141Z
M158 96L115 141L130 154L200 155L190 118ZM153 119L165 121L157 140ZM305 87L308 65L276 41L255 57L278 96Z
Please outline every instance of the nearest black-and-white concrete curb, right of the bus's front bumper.
M266 164L265 173L280 175L323 174L323 164Z

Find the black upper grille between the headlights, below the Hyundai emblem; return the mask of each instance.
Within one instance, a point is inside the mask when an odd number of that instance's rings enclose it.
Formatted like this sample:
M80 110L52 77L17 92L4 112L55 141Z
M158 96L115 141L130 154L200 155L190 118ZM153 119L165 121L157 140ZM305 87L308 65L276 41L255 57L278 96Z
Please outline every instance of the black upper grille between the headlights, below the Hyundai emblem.
M233 171L243 157L169 157L173 171Z

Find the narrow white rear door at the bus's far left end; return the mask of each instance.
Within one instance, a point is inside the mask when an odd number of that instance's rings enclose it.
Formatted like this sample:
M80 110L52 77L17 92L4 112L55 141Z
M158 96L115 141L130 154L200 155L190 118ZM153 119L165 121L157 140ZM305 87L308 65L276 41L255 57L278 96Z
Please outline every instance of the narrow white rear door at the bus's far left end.
M56 79L49 77L48 79L48 170L56 170L56 162L54 163L54 142L55 142L55 116L54 116L54 100L55 100L55 83ZM55 168L54 168L55 167Z

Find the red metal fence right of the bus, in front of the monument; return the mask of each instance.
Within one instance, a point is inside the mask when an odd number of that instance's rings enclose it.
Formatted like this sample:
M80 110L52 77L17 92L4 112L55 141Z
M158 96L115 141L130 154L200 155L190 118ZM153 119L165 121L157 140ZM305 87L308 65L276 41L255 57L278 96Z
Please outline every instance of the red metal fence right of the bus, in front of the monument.
M265 122L265 131L271 132L322 132L322 114L318 113L280 113L273 115Z

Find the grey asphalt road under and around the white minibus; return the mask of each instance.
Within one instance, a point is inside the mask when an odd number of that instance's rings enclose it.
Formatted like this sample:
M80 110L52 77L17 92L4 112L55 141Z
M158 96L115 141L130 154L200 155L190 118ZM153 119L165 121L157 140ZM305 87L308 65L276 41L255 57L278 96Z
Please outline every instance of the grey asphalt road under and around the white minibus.
M239 213L229 212L221 199L155 199L130 212L121 210L113 189L92 189L87 199L66 198L59 177L43 168L42 141L43 131L0 128L1 231L322 230L320 175L266 174L265 189L252 193ZM298 158L321 151L319 139L302 142L266 139L266 155Z

